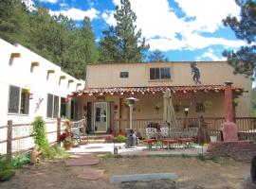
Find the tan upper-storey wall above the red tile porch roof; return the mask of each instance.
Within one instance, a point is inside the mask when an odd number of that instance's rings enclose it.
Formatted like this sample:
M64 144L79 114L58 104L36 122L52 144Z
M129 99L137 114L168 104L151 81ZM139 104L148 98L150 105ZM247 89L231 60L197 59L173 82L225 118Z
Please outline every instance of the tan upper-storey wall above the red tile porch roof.
M251 88L251 80L242 75L233 75L233 68L226 61L196 62L202 85L222 85L232 81L235 85ZM151 67L171 67L171 79L150 81ZM129 72L128 78L120 78L120 72ZM86 87L146 87L195 85L190 62L145 62L93 64L87 66Z

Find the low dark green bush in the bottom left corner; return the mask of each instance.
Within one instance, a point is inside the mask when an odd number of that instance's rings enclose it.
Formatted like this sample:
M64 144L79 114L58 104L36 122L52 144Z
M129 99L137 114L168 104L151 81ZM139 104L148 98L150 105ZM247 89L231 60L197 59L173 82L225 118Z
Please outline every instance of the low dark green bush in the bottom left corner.
M15 175L14 167L6 158L0 159L0 181L9 180Z

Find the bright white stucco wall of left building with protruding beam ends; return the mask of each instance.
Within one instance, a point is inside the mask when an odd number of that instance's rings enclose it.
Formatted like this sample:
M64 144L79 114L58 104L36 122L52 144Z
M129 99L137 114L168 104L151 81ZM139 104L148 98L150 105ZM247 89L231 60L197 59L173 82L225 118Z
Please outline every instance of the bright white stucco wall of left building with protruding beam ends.
M13 120L13 124L30 123L37 115L43 116L46 120L47 94L54 94L66 97L78 89L83 89L84 81L78 80L65 74L59 66L44 59L43 57L31 52L20 44L12 45L0 39L0 126L7 125L8 120ZM11 53L20 53L20 58L14 58L10 63ZM31 62L39 62L39 66L31 69ZM55 70L55 73L49 74L48 70ZM60 76L65 76L60 82ZM68 86L68 80L74 82ZM77 83L82 86L77 87ZM9 113L9 85L17 86L24 89L30 89L33 99L29 100L29 114L21 115ZM44 98L37 112L36 103L39 98ZM59 102L61 106L61 102ZM59 111L60 111L59 107Z

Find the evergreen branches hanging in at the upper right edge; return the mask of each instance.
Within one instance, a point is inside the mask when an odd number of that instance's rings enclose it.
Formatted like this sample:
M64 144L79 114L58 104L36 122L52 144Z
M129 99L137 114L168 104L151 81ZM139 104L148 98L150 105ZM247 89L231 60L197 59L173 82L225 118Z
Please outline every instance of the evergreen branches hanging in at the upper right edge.
M235 32L238 39L245 40L246 46L241 46L237 51L224 51L223 56L228 58L234 67L234 74L253 76L256 65L256 2L254 0L236 0L241 8L241 19L228 16L223 23Z

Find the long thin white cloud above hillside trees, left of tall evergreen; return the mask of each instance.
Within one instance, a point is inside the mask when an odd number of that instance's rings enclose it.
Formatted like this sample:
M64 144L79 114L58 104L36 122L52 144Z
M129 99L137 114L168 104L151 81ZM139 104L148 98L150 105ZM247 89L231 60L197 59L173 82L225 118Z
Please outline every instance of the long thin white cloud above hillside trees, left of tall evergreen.
M88 10L82 10L82 9L63 9L59 11L49 11L51 15L59 15L60 13L64 14L68 18L71 18L73 20L83 20L84 16L88 16L91 20L96 19L98 17L98 14L100 13L98 10L92 8Z

